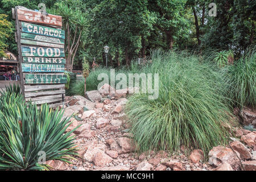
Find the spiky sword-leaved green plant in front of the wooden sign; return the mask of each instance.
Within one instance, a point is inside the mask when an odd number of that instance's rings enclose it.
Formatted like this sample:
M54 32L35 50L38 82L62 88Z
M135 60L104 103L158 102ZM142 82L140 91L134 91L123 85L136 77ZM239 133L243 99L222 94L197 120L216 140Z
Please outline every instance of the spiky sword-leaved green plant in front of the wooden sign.
M47 169L40 164L40 151L46 160L68 162L75 155L75 140L70 131L69 118L62 118L63 111L37 108L25 104L17 86L10 86L0 97L0 169Z

